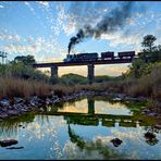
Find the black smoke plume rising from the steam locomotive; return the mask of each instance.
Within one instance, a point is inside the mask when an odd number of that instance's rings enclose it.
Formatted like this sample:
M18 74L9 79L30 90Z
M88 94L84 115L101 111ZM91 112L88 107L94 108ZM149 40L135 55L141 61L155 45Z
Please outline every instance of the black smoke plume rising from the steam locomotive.
M124 2L121 7L113 9L108 15L104 15L95 27L86 25L79 29L76 36L70 39L69 54L71 49L85 38L100 38L102 34L113 33L123 27L126 20L131 17L133 3Z

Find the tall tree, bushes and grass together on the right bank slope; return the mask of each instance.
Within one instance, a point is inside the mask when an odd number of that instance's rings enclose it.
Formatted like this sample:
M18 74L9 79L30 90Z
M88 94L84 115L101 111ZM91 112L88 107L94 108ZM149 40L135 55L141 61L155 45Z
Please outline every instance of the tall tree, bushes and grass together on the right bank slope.
M144 37L138 59L123 74L126 92L161 101L161 45L156 46L153 35Z

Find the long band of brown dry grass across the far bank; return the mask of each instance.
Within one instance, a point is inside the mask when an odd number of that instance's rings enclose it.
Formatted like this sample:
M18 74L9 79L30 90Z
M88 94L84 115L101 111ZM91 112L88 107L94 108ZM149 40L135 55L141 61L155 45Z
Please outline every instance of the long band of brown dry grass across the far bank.
M81 90L124 92L132 97L145 96L161 101L161 66L153 69L150 74L140 78L122 78L92 85L64 85L62 83L51 85L41 81L15 78L13 76L0 77L0 99L3 97L48 97L53 91L62 97Z

